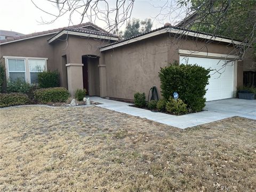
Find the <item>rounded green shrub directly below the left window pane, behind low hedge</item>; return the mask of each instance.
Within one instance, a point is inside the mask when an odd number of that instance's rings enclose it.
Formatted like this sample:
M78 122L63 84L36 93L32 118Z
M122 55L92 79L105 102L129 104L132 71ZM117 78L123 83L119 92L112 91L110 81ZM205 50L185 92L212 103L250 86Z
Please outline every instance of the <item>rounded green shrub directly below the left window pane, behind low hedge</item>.
M21 80L17 79L16 81L9 81L7 83L7 93L24 93L27 94L27 92L30 89L30 84Z

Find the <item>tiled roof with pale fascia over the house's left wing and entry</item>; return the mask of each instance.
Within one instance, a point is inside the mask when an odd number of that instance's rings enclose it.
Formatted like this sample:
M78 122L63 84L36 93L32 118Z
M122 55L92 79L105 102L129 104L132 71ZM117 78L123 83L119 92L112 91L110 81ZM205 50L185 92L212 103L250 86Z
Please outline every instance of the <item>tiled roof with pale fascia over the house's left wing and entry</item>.
M82 27L87 27L87 28L83 29ZM28 35L21 35L21 36L17 36L17 37L2 39L0 41L0 44L12 43L12 42L16 42L16 41L22 41L22 40L25 40L25 39L28 39L28 38L35 38L35 37L39 37L39 36L56 34L56 33L61 32L63 30L78 30L78 29L83 31L81 33L86 33L86 31L87 31L87 33L94 33L94 34L98 33L99 35L104 34L105 36L110 36L110 33L108 33L108 31L98 27L97 25L94 25L91 22L86 22L86 23L81 23L79 25L62 27L62 28L57 28L57 29L51 29L51 30L36 32L36 33L28 34Z

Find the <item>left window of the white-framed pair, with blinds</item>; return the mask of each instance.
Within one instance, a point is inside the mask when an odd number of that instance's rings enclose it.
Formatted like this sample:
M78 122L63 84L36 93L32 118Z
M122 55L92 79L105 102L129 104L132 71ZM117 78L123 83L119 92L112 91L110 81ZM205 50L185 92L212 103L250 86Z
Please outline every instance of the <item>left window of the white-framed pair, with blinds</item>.
M9 79L26 81L25 59L8 59Z

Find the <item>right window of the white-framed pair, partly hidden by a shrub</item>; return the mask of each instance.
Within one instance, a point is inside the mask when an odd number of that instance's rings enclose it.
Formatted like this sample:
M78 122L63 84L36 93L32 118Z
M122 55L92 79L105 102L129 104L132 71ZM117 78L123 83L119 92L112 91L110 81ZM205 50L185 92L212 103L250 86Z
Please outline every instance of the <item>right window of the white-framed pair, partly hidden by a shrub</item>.
M45 70L45 60L29 59L30 83L38 83L38 73Z

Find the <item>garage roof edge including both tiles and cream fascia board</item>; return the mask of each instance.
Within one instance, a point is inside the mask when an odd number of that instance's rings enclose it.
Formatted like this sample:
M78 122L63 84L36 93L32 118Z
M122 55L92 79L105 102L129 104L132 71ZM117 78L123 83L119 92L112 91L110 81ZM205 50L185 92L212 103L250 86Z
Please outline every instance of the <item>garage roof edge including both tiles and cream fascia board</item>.
M205 38L205 39L212 39L212 41L219 41L219 42L226 42L226 43L231 43L231 44L241 44L243 42L231 39L229 37L225 36L220 36L220 35L213 35L209 33L204 33L201 31L194 31L194 30L189 30L181 27L174 27L171 26L170 23L166 23L164 27L160 27L154 30L150 30L145 33L141 33L139 35L132 36L130 38L122 39L121 41L110 43L108 45L104 45L101 47L100 51L105 51L108 49L113 49L114 47L117 46L122 46L125 44L133 43L136 41L140 41L141 39L152 37L155 35L159 34L164 34L164 33L173 33L173 34L181 34L184 36L192 36L196 38Z

